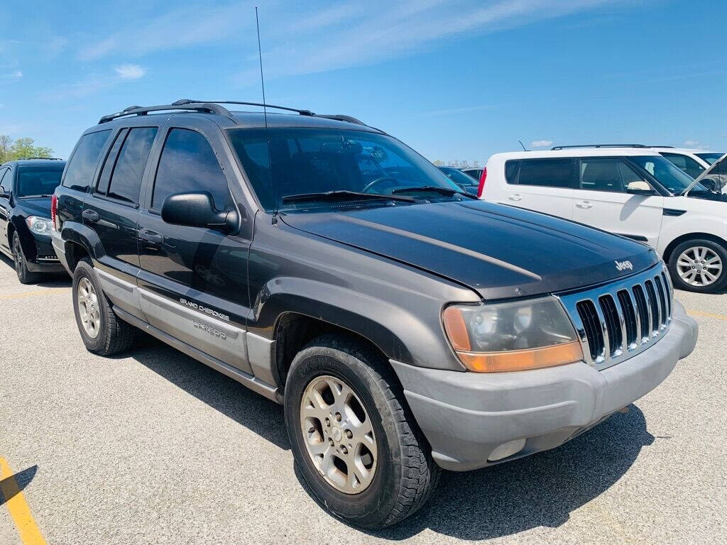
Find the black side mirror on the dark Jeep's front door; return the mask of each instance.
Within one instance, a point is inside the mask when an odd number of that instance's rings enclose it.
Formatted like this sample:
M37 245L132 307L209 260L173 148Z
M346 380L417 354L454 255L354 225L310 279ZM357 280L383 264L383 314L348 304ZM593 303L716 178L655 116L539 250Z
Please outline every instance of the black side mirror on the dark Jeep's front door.
M212 194L207 191L169 195L161 204L161 219L172 225L204 227L222 233L232 233L239 221L236 211L214 208Z

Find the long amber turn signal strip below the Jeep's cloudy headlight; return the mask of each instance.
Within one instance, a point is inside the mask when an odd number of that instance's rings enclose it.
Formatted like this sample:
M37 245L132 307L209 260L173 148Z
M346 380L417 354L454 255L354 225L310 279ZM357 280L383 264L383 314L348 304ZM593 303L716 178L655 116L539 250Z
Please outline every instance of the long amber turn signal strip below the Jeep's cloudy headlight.
M454 344L454 342L453 342ZM544 367L562 366L583 359L583 351L578 341L555 344L545 348L529 350L510 350L507 352L467 352L456 350L459 360L470 371L478 373L505 373L506 371L526 371Z

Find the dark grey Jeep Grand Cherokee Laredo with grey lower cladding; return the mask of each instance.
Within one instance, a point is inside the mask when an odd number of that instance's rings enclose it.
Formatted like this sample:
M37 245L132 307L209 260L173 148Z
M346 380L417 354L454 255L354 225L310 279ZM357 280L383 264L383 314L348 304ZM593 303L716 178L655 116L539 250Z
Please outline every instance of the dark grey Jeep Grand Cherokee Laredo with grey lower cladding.
M283 403L337 516L398 522L440 467L561 445L694 349L647 246L473 199L348 116L220 104L88 129L53 243L90 351L138 328Z

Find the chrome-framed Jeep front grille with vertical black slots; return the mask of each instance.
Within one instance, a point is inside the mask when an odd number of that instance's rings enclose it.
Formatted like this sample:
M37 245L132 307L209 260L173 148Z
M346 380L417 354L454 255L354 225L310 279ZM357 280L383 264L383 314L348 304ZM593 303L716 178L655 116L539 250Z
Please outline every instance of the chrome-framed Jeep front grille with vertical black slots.
M587 291L557 294L586 363L605 369L656 343L672 322L672 284L663 263Z

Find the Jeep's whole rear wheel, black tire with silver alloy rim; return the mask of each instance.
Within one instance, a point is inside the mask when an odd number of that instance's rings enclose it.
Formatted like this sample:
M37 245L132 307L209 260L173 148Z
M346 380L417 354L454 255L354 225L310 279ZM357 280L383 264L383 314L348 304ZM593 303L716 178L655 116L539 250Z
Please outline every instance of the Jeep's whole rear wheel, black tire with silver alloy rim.
M136 329L113 313L87 257L79 261L73 272L73 312L89 352L108 356L133 344Z

